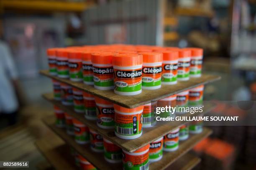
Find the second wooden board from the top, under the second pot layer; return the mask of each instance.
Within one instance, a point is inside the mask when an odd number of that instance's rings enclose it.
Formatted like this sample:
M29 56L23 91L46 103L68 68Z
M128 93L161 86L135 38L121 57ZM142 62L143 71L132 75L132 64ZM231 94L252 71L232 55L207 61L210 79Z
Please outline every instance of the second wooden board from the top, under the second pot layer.
M83 114L78 114L74 112L73 106L64 106L61 104L60 101L54 100L54 96L52 93L50 94L44 94L43 97L50 101L52 104L58 106L61 108L64 112L67 112L72 117L78 119L79 121L86 124L89 128L94 129L99 134L101 134L103 137L107 138L111 142L115 143L115 145L118 145L124 150L127 150L128 152L134 152L135 150L138 150L139 148L148 145L149 143L159 139L160 137L166 135L167 133L171 132L172 130L176 129L177 127L181 126L182 124L187 123L187 121L172 121L172 122L166 122L165 124L159 124L154 127L150 128L143 128L143 134L141 137L133 140L123 140L115 136L114 129L101 129L97 126L96 121L90 121L84 118ZM213 108L213 105L210 106L204 106L204 110L210 110ZM183 114L184 115L184 114ZM187 114L187 116L195 116L193 114ZM54 119L51 118L51 119Z

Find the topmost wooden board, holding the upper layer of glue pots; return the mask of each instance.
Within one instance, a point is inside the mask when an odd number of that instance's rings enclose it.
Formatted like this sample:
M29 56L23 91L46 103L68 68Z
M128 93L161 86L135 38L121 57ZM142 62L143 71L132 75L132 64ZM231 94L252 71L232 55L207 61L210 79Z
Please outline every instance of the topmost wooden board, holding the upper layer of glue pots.
M179 92L191 89L201 84L207 84L220 79L220 76L203 74L200 78L190 78L189 81L179 81L177 84L172 86L162 85L161 89L142 90L141 94L135 96L121 96L115 94L113 90L97 90L93 86L83 84L82 82L74 82L70 81L69 79L61 79L57 76L51 76L48 70L42 70L40 71L40 73L44 76L48 76L52 79L61 81L63 83L67 83L70 86L86 91L87 93L99 96L102 99L111 101L115 104L128 108L134 108L144 104L148 104L151 101L163 99L170 95L177 94Z

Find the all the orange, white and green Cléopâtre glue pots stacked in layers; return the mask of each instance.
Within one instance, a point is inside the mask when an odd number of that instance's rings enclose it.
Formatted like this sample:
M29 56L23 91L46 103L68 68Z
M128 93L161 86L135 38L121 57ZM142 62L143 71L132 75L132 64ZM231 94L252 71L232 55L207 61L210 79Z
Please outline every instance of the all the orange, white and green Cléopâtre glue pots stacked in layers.
M47 54L51 75L83 82L99 90L114 90L125 96L140 94L143 89L160 89L161 84L171 87L177 81L188 81L189 77L200 78L203 57L201 48L132 45L50 48ZM154 112L151 106L197 104L202 101L204 89L203 85L198 86L130 109L56 80L53 84L54 99L63 105L73 105L75 112L95 120L99 128L113 129L117 137L125 140L136 139L141 136L142 128L151 127L151 113ZM173 152L178 149L179 140L187 140L189 133L202 132L202 122L182 125L150 145L127 152L58 107L55 106L54 111L57 127L66 127L67 134L74 135L75 141L81 145L90 142L92 151L104 152L105 160L110 163L122 162L123 159L124 170L147 170L149 162L161 160L163 150ZM73 150L72 153L82 169L96 169L77 152Z

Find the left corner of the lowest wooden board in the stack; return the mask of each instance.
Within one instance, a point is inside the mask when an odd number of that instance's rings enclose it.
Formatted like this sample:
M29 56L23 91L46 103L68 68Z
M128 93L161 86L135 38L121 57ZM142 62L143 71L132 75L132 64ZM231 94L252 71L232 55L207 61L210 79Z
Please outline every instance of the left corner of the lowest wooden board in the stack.
M56 170L77 170L69 147L56 135L37 140L35 144Z

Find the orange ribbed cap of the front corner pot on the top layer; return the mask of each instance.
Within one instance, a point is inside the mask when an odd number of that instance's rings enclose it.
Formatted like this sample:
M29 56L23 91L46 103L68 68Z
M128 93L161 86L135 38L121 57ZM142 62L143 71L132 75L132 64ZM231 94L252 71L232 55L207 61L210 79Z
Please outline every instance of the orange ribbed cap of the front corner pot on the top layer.
M142 64L142 56L136 53L115 54L113 65L115 66L138 66Z

